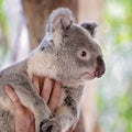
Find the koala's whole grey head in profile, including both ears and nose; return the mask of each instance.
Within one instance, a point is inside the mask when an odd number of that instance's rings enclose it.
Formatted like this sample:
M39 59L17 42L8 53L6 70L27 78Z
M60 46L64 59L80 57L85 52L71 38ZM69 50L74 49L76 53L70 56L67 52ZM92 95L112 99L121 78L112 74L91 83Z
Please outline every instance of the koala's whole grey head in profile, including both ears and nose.
M70 10L61 8L50 15L44 50L53 55L53 67L59 80L84 81L101 77L105 62L94 40L96 23L74 23Z

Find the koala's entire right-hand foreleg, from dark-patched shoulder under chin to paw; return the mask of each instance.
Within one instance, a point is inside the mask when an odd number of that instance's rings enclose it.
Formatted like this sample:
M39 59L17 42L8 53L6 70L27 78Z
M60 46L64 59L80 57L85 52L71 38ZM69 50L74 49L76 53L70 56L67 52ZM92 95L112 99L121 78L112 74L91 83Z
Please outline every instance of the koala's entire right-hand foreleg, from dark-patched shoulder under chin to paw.
M53 119L44 120L41 123L41 132L66 132L79 117L79 101L82 89L64 87L66 97L64 103L56 109Z

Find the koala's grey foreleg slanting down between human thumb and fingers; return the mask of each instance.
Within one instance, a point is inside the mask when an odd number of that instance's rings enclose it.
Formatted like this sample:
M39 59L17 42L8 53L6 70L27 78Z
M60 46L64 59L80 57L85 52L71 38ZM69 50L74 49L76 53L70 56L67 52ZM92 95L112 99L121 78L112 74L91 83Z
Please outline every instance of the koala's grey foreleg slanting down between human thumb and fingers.
M36 129L35 132L40 132L40 123L44 119L48 119L52 113L45 101L38 95L36 95L32 82L25 75L14 74L12 76L16 78L15 81L11 80L12 78L10 78L8 84L14 88L21 102L34 113Z

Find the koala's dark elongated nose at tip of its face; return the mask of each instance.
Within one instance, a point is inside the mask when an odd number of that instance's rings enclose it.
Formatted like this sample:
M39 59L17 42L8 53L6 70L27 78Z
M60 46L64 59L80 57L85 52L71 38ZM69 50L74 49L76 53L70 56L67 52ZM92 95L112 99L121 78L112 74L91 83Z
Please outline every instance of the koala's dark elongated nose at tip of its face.
M96 77L101 77L105 74L106 70L106 66L105 66L105 62L102 56L98 56L97 57L97 67L96 67L96 72L95 72L95 76Z

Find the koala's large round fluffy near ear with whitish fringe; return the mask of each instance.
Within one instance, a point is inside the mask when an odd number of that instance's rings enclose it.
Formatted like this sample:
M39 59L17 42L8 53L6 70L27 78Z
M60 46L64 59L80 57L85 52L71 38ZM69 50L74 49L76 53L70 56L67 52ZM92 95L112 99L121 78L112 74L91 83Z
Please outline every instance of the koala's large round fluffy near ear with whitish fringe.
M69 9L56 9L50 15L47 32L54 32L56 30L66 30L73 24L73 13Z

